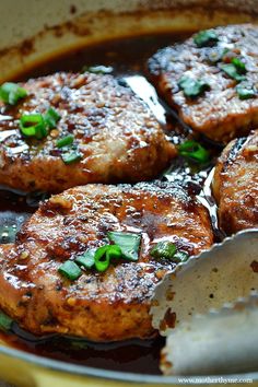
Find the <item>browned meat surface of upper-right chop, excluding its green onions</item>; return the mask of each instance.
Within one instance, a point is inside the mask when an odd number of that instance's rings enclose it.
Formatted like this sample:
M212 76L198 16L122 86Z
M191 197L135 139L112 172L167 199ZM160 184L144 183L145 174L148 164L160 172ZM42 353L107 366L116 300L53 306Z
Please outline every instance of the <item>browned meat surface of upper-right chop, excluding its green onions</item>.
M258 27L251 24L214 28L220 42L216 48L228 48L231 56L243 58L246 80L258 82ZM198 48L189 38L183 44L166 47L149 60L149 71L160 94L178 110L180 118L194 130L212 140L228 142L245 136L258 125L258 95L242 101L236 93L236 81L228 78L218 64L209 63L210 47ZM190 99L179 90L183 75L202 79L211 86L202 96Z

